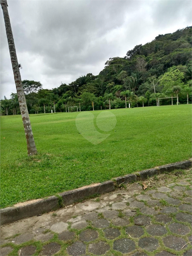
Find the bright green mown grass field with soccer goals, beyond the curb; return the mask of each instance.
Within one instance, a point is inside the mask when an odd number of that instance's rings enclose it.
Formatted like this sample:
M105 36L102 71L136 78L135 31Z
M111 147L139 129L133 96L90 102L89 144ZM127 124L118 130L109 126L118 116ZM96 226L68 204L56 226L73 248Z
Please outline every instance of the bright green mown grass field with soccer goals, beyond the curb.
M30 115L33 157L21 116L1 116L1 208L191 157L191 104L110 112L116 127L97 145L79 134L79 112Z

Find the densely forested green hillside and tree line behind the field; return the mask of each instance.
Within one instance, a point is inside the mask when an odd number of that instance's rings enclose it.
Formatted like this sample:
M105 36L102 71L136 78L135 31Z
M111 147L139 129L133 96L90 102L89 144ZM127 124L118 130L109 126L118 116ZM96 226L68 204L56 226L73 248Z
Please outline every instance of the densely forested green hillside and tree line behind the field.
M94 76L88 73L52 90L40 82L23 81L29 113L81 111L154 106L158 98L179 97L191 103L191 27L158 35L152 42L136 45L124 58L113 57ZM177 98L160 104L175 104ZM17 94L1 100L1 115L20 114Z

